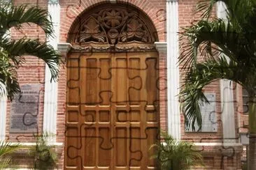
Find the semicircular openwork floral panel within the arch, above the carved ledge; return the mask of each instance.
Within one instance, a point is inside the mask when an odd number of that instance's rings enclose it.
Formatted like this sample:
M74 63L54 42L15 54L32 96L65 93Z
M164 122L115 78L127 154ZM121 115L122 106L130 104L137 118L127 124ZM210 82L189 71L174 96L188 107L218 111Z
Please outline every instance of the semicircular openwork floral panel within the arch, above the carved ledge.
M115 45L122 42L154 42L143 21L129 10L107 8L92 13L80 25L73 42L101 42Z

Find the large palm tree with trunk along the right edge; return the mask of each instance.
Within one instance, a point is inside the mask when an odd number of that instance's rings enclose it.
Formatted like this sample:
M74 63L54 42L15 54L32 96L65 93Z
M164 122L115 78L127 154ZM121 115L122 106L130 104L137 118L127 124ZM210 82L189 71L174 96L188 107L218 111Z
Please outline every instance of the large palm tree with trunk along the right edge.
M183 98L185 126L201 128L199 102L207 99L203 88L217 79L229 79L248 91L249 161L248 169L256 167L256 0L222 0L227 7L227 20L211 18L215 3L204 0L198 10L201 20L185 27L181 33L184 51L180 63L187 70L180 91ZM211 20L210 20L211 18ZM204 61L197 60L198 52Z

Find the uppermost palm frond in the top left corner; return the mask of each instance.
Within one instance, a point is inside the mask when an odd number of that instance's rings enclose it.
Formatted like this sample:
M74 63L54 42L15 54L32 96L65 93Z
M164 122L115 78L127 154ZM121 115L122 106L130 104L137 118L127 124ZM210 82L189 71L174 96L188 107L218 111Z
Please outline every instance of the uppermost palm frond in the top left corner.
M0 6L0 28L1 33L6 33L11 27L21 29L24 23L34 23L43 29L47 36L52 36L54 32L51 18L48 11L36 6L13 6L11 3L1 2Z

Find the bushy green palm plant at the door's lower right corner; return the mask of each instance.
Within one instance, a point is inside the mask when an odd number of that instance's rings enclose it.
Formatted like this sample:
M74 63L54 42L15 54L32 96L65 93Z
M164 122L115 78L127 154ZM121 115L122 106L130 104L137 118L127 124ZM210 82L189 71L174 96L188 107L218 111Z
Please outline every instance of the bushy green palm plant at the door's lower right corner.
M164 141L159 141L150 147L150 149L157 149L157 152L151 158L157 159L161 169L183 170L195 165L203 165L203 157L196 150L194 144L173 139L171 135L165 132L162 132L161 136Z

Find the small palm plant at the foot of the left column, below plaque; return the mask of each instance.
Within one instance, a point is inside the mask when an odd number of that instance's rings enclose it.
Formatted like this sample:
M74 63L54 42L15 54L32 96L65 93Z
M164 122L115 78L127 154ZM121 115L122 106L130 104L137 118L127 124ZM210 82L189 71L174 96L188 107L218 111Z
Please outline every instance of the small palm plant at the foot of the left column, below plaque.
M48 132L36 137L36 146L29 152L29 155L34 157L34 169L54 169L57 166L55 146L48 144L50 137L52 135Z

